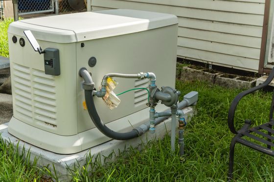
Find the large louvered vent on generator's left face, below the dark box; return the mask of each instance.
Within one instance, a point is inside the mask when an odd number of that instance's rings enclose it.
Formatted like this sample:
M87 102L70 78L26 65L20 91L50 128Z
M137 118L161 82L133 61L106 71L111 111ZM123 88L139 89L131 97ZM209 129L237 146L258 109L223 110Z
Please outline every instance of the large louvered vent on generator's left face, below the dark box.
M44 71L14 64L15 111L24 122L57 127L54 76Z

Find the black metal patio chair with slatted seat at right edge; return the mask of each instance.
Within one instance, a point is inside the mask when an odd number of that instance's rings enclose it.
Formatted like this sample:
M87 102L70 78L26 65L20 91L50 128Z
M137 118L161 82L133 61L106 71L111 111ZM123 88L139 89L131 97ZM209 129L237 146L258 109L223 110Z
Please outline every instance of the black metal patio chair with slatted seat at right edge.
M270 115L269 115L269 121L259 125L250 128L251 121L245 120L245 123L243 127L236 131L234 126L234 114L237 107L237 104L239 101L246 95L262 89L273 80L274 78L274 68L272 69L269 77L266 81L264 81L262 84L255 86L251 89L248 89L240 94L238 94L234 100L231 102L229 111L228 111L228 127L230 131L235 135L235 137L232 139L229 149L229 169L228 169L228 182L230 182L233 178L233 164L234 164L234 148L236 143L241 143L243 145L246 145L252 149L255 149L259 152L274 156L274 137L272 134L274 134L274 130L272 129L272 126L274 125L274 119L273 119L273 110L274 110L274 94L272 96L272 102L270 107ZM256 136L255 136L255 135ZM247 139L252 139L255 142L251 142L250 140L243 139L243 137L247 137ZM260 144L258 144L260 143Z

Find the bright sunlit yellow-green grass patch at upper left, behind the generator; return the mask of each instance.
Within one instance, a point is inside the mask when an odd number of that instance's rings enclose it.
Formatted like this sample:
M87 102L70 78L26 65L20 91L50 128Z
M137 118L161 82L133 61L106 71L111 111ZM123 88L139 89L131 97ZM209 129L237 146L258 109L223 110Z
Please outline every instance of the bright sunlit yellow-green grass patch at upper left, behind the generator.
M0 56L9 57L8 51L8 25L13 19L4 19L0 21Z

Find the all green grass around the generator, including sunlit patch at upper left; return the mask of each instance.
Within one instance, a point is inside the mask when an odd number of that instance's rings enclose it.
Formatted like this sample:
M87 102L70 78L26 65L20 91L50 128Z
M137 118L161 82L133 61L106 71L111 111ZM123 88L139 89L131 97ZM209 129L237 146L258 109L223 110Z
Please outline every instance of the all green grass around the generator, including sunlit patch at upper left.
M6 30L11 21L0 22L0 56L8 57ZM177 153L170 152L170 137L165 136L149 142L142 151L128 149L106 166L100 162L91 165L91 159L87 158L89 165L70 171L72 181L226 181L228 150L233 137L227 125L228 108L241 90L212 86L206 81L179 80L176 88L182 96L190 91L199 92L197 115L185 129L183 162ZM255 124L267 121L270 101L269 92L247 96L239 103L235 115L237 125L240 127L244 119L251 119ZM234 168L234 177L240 182L274 181L274 159L243 145L236 145ZM28 158L23 160L23 154L16 152L16 148L0 141L0 181L49 181L44 177L46 174L58 181L58 176L50 174L46 167L38 168Z

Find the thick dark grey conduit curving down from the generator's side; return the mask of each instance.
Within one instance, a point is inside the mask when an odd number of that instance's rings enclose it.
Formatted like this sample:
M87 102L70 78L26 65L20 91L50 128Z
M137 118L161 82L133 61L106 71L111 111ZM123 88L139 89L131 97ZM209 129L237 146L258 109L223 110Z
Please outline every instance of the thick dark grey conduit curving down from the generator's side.
M93 121L94 125L104 135L106 135L109 138L115 139L115 140L129 140L129 139L133 139L133 138L141 136L145 131L148 130L149 124L148 124L148 127L146 124L142 124L141 126L133 129L130 132L126 132L126 133L115 132L115 131L111 130L110 128L108 128L101 121L101 119L96 111L96 107L94 105L93 96L92 96L92 91L94 89L94 82L92 81L90 73L87 71L86 68L81 68L79 70L79 75L84 79L83 88L85 90L85 100L86 100L86 104L87 104L87 108L88 108L88 112L91 117L91 120ZM178 107L179 106L185 107L187 105L188 105L188 101L183 100L182 102L179 103ZM169 117L167 116L167 117L158 118L156 120L155 124L159 124L161 121L164 121L167 118L169 118ZM143 128L143 126L145 126L145 128Z

